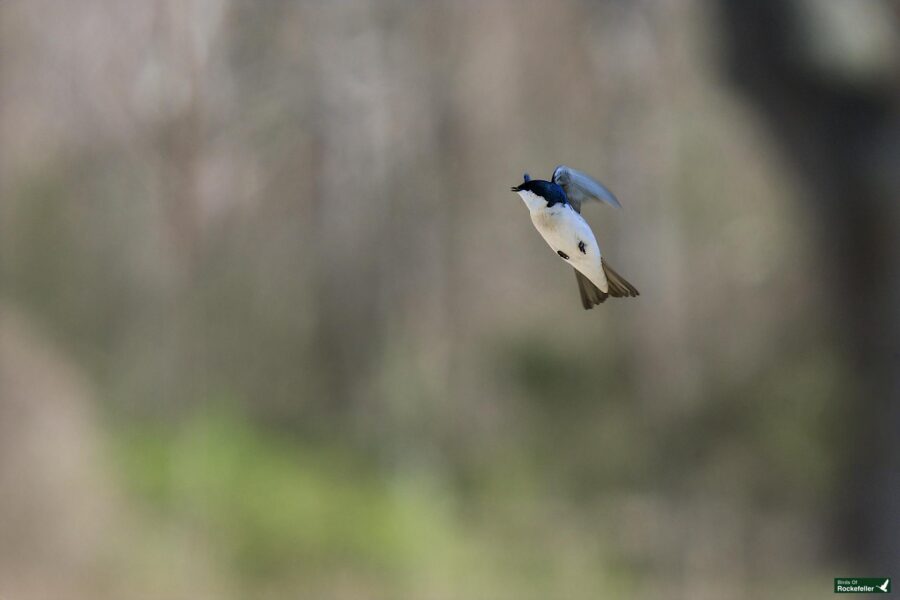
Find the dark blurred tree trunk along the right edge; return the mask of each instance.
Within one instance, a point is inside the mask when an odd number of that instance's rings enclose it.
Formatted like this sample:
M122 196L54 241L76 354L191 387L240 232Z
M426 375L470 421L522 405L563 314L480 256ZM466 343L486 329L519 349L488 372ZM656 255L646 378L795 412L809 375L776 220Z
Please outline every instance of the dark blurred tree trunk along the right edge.
M900 558L900 85L888 3L719 3L731 75L806 182L822 302L855 370L835 540L871 573ZM777 302L777 299L773 299Z

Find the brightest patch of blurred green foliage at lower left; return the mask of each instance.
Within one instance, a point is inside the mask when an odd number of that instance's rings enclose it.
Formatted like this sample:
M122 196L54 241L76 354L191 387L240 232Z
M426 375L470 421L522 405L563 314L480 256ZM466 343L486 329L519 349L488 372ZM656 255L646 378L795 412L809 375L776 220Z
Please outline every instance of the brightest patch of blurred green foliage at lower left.
M130 489L209 533L246 576L399 575L425 556L425 540L432 557L452 544L445 503L427 485L391 485L361 460L264 435L231 412L198 414L176 431L133 430L120 445Z

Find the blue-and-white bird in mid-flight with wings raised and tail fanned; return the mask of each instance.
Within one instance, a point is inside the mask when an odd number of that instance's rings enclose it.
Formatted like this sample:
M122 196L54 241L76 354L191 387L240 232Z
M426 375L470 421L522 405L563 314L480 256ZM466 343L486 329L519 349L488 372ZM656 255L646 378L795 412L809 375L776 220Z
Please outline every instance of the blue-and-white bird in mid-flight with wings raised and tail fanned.
M612 192L589 175L565 165L554 169L552 181L531 179L528 173L523 179L512 191L525 201L531 222L544 241L575 269L584 308L591 309L609 296L640 295L602 257L594 232L581 216L581 203L585 200L622 208Z

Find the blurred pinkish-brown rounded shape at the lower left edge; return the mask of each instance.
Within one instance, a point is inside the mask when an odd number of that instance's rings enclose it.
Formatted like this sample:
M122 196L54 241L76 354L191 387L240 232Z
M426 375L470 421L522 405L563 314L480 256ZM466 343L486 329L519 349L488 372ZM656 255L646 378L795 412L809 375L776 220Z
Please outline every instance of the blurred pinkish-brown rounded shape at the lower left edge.
M18 598L96 597L121 525L94 392L75 361L0 301L0 580Z

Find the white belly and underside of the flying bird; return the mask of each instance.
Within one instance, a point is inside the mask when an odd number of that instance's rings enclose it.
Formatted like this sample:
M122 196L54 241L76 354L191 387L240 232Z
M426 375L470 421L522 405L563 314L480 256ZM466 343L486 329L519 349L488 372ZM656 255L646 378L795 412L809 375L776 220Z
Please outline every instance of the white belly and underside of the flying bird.
M532 210L531 222L560 258L590 279L600 291L609 291L600 246L581 215L568 205L556 204Z

